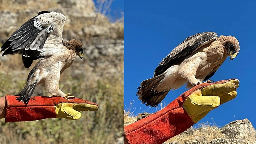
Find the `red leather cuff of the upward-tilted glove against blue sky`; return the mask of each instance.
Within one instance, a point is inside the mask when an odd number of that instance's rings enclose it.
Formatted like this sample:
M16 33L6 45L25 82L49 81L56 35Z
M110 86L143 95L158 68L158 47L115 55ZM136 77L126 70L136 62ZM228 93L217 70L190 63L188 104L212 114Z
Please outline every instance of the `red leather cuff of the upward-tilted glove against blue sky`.
M160 144L191 127L194 122L182 108L183 94L164 109L124 127L124 135L130 144Z

